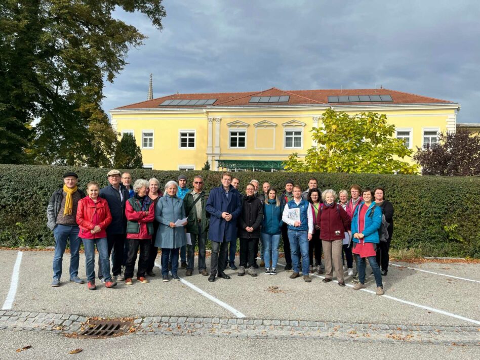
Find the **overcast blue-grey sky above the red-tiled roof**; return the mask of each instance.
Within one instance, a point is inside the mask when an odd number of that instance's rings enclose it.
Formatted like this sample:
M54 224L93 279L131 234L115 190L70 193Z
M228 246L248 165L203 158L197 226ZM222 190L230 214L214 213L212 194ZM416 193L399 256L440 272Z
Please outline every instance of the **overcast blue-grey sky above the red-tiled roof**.
M142 14L115 16L148 36L106 83L104 110L180 93L394 89L459 102L480 122L477 1L165 0L158 31Z

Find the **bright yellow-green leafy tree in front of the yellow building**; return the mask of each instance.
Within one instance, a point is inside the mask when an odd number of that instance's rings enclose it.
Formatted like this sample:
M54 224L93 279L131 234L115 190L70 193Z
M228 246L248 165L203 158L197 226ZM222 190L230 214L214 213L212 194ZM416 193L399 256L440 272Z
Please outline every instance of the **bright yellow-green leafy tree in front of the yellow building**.
M348 115L327 109L321 125L311 132L317 145L307 150L305 159L291 154L284 162L286 170L376 174L417 171L417 165L402 160L412 151L392 137L395 126L387 124L384 114Z

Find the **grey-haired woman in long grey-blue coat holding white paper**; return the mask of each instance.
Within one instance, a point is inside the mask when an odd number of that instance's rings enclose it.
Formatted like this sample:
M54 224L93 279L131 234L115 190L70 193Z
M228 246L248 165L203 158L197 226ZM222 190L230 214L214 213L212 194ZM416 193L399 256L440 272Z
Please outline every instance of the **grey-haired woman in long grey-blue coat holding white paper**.
M185 208L183 200L177 197L178 184L169 181L165 184L165 195L156 203L155 219L159 222L158 231L156 233L155 246L162 248L162 280L169 281L168 262L170 253L172 253L172 279L179 281L178 271L178 255L182 246L187 244L184 226L175 226L177 220L184 219Z

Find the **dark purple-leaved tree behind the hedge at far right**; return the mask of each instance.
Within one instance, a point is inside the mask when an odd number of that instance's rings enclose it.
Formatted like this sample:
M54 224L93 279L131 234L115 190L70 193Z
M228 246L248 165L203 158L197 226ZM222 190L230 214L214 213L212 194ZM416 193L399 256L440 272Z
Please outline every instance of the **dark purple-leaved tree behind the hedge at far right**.
M423 175L480 176L480 134L465 129L438 135L438 144L420 149L413 157Z

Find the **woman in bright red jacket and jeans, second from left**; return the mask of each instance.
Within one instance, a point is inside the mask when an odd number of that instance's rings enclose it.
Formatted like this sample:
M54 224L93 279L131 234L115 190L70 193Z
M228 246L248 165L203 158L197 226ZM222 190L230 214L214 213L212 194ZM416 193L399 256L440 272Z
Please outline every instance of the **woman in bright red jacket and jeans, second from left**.
M76 223L80 228L78 237L82 239L85 248L85 268L87 271L88 288L95 290L95 245L99 254L105 278L105 287L112 288L116 282L112 281L110 274L110 260L108 256L107 234L105 229L112 221L110 208L105 199L100 198L98 183L87 184L87 196L78 202L76 210Z

